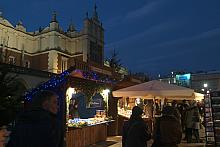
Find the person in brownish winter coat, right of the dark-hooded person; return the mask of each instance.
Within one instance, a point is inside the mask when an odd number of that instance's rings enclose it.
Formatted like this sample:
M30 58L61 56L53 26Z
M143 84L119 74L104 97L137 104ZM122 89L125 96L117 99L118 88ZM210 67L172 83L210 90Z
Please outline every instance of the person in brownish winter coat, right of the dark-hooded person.
M152 147L178 147L182 138L180 121L175 117L172 106L163 108L162 117L156 120Z

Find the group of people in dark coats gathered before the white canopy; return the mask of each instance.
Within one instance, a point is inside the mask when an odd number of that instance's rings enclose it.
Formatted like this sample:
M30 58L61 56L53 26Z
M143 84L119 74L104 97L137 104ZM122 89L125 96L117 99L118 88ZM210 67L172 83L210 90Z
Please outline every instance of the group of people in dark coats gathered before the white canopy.
M153 139L152 147L177 147L183 138L182 134L185 135L184 139L187 143L199 143L202 108L202 105L198 105L194 100L165 103L162 115L155 117L151 134L141 118L143 110L135 106L129 121L126 121L123 126L122 146L146 147L146 142Z

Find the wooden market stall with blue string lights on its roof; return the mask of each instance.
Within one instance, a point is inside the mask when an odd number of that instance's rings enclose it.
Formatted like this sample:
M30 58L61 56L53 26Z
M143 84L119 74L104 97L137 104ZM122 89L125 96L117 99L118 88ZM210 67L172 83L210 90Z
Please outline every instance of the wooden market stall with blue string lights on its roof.
M62 142L67 147L80 147L104 141L107 125L113 120L108 116L108 95L111 81L96 73L70 68L52 77L25 94L28 104L35 92L52 90L58 96L57 123Z

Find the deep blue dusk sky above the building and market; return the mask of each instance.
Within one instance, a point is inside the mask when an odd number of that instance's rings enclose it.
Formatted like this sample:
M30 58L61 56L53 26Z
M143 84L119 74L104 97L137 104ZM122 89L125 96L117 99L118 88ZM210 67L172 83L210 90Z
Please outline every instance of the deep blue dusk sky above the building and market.
M66 30L72 20L82 28L93 0L1 0L13 25L28 31L49 25L56 11ZM96 0L105 29L105 56L113 48L132 72L220 70L220 0Z

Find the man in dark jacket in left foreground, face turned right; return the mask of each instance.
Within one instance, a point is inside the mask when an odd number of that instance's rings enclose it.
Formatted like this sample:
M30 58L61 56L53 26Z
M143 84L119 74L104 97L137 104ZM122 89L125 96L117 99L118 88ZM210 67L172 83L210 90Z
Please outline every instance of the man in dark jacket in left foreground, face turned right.
M54 92L44 90L34 94L31 108L18 116L7 147L58 147L61 138L57 111Z

